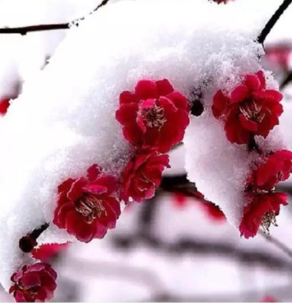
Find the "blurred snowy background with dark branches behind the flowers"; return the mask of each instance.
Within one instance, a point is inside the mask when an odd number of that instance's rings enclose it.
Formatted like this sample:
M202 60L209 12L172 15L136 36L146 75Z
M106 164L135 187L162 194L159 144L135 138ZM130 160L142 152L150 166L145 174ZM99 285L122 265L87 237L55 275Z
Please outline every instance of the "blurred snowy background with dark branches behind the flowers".
M67 22L99 2L0 0L0 28ZM263 58L284 94L280 125L290 148L291 25L292 7L268 36ZM44 68L65 35L66 30L0 35L1 114L23 82ZM53 301L292 301L292 207L282 208L271 238L240 238L222 212L187 183L184 146L175 147L170 158L172 168L155 199L127 206L117 228L102 241L35 251L58 272ZM281 190L292 193L291 181ZM1 289L0 301L13 298Z

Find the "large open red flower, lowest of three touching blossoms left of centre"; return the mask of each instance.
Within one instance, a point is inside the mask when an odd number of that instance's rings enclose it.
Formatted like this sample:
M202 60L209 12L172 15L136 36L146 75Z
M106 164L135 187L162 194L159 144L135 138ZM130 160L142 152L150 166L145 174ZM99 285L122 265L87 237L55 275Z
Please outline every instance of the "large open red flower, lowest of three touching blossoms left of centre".
M121 214L119 202L111 196L115 189L115 178L92 165L86 178L68 179L59 185L53 223L82 242L103 238Z

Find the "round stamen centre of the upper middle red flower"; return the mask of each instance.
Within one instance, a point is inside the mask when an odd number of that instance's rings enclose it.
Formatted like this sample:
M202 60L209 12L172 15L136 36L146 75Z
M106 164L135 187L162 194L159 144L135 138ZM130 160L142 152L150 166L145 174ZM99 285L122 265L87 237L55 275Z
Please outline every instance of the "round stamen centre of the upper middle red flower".
M165 118L165 111L162 107L154 105L150 108L144 108L141 110L141 116L143 122L147 127L159 127L161 128L167 121Z

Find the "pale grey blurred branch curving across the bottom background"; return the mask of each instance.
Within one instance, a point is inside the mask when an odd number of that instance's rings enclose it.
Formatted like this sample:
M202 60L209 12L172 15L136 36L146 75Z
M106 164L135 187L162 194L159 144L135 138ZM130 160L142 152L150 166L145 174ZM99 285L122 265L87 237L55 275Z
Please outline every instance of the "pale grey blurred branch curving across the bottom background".
M171 289L166 288L159 275L152 271L150 266L148 266L148 268L140 268L132 265L121 265L119 262L88 261L77 258L66 258L62 260L62 266L70 268L72 272L78 275L82 272L88 276L101 276L102 278L113 277L118 279L121 279L122 277L123 280L129 281L130 283L143 283L145 287L149 288L151 297L147 300L143 300L142 302L240 302L242 301L242 298L253 298L251 301L256 301L254 298L259 299L259 293L257 290L240 291L239 293L180 296L176 292L173 293ZM66 276L66 279L67 278L68 277ZM60 274L59 283L63 280L64 277ZM72 281L70 282L72 283ZM269 288L269 292L284 293L289 289L289 287L291 287L291 285L280 285ZM70 301L78 301L78 297L73 297ZM132 301L139 302L141 301L141 298Z

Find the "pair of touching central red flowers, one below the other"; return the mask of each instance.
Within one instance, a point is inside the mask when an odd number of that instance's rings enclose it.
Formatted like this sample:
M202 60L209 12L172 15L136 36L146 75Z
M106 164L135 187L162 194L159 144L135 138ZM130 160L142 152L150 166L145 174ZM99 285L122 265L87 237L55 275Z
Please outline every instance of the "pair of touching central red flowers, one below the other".
M140 202L154 196L162 171L170 167L165 153L182 141L190 108L167 79L141 80L134 92L122 92L119 101L116 119L135 150L122 174L120 198Z

